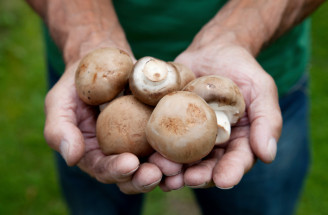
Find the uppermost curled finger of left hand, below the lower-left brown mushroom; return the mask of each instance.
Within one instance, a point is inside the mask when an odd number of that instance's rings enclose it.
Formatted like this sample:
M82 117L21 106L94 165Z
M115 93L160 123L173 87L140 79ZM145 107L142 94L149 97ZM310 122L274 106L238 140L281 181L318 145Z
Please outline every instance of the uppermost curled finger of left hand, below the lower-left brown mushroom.
M105 156L100 150L87 152L78 163L80 169L105 184L130 180L139 165L139 159L131 153Z

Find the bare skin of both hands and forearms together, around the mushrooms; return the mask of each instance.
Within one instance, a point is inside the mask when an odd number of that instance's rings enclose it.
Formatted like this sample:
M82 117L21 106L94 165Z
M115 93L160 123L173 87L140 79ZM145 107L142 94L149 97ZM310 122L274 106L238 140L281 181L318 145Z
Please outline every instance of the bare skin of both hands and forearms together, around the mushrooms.
M99 149L97 111L77 97L74 72L79 59L97 47L118 47L133 56L112 1L28 0L47 23L67 65L46 97L47 143L68 165L77 164L101 182L116 183L125 193L148 192L158 184L165 191L185 185L229 188L238 184L255 159L267 163L274 159L282 127L275 83L254 56L323 2L228 1L177 56L175 61L190 67L196 76L231 78L246 102L245 117L232 128L226 146L214 148L201 162L183 166L158 153L140 164L132 154L104 156Z

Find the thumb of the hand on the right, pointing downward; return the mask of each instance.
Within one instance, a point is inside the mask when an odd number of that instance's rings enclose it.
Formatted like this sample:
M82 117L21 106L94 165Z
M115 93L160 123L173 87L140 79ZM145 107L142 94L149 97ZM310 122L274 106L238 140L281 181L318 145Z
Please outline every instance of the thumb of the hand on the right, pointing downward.
M257 96L252 98L247 109L250 128L250 144L255 155L263 162L275 159L277 140L281 134L282 116L278 103L276 86L271 77L262 81L255 90Z

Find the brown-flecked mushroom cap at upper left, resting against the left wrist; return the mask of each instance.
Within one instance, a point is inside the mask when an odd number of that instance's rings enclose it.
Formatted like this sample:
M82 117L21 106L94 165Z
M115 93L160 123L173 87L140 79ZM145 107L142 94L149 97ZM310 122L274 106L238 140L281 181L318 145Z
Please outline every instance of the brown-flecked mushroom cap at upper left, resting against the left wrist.
M79 97L89 105L112 100L128 83L133 61L117 48L101 48L87 54L75 73Z

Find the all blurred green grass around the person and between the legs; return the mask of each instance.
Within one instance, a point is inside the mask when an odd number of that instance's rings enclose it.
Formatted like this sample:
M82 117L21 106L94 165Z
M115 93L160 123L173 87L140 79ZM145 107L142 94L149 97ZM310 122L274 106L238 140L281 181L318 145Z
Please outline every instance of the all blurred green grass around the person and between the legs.
M328 5L313 15L312 167L298 215L328 213ZM46 95L40 20L24 1L0 1L0 214L67 214L43 139ZM151 192L144 214L200 214L188 189Z

